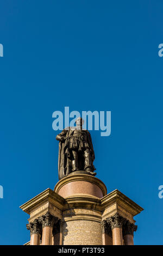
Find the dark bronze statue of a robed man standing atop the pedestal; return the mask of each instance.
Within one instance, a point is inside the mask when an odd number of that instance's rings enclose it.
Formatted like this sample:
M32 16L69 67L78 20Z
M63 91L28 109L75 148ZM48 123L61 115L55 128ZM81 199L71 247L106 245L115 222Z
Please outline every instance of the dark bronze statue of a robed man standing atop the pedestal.
M95 153L89 131L83 130L84 120L77 118L76 126L67 127L56 139L59 141L58 175L64 178L72 172L79 170L85 174L95 176Z

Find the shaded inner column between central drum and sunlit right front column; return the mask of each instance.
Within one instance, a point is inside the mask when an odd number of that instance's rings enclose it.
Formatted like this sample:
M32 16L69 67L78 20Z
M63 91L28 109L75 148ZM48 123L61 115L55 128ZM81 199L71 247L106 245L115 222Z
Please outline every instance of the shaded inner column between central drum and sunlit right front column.
M101 222L101 228L103 245L112 245L111 225L108 222L106 222L106 220L103 220Z

